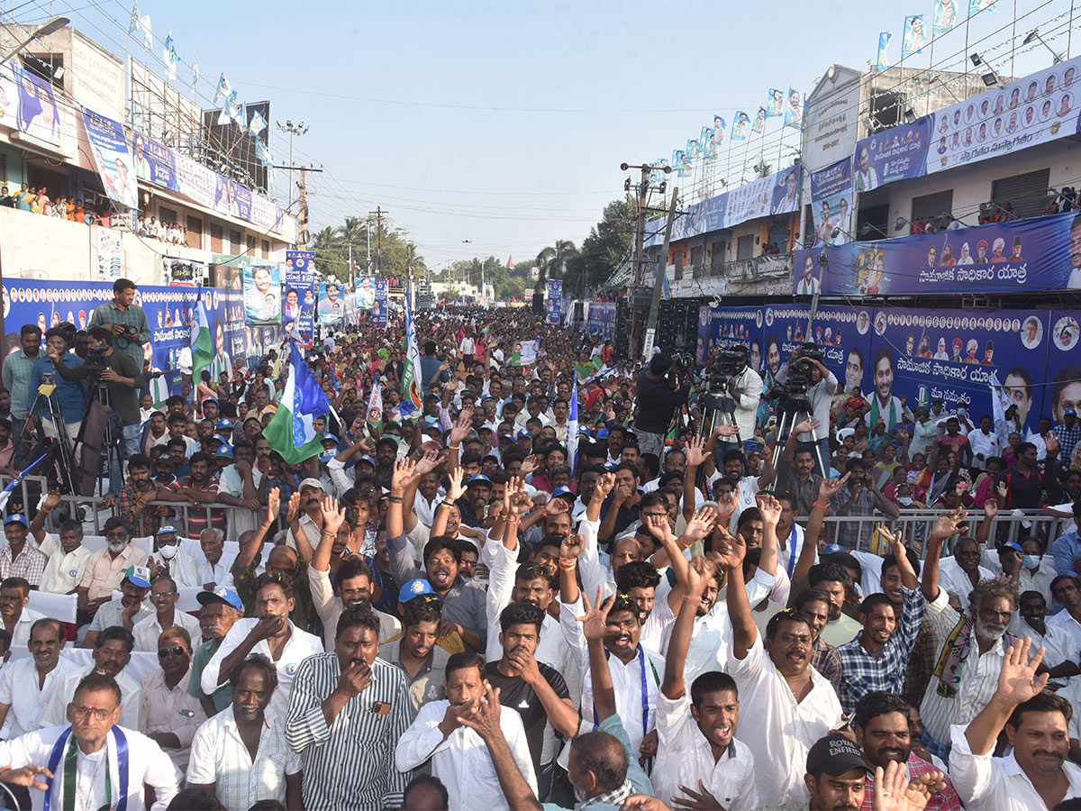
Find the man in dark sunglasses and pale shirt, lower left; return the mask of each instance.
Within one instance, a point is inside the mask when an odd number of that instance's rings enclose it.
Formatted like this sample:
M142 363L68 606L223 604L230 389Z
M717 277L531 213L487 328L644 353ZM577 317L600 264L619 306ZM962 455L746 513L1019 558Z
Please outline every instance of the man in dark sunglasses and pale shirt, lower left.
M191 637L181 627L166 628L157 641L157 670L143 677L143 726L176 768L188 768L191 740L206 720L199 700L188 693L191 679Z

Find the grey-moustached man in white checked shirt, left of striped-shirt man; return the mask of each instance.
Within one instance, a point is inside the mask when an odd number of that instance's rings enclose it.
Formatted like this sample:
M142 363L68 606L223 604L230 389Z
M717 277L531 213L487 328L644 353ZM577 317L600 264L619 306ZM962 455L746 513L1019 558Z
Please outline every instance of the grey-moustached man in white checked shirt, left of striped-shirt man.
M285 742L285 719L270 706L278 672L262 653L229 674L230 702L191 742L188 788L203 788L229 811L259 800L302 808L301 756Z

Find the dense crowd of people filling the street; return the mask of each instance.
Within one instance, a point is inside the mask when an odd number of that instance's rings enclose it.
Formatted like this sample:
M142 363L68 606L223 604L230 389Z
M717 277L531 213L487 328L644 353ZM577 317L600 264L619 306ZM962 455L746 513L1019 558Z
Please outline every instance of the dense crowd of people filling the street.
M35 808L1077 807L1075 414L1040 448L940 402L888 430L811 360L776 436L791 361L736 349L718 421L664 351L441 309L418 403L401 318L306 350L331 409L297 458L288 345L157 408L115 292L104 537L61 482L3 516L0 782ZM4 361L6 476L50 436L35 375L85 385L44 338Z

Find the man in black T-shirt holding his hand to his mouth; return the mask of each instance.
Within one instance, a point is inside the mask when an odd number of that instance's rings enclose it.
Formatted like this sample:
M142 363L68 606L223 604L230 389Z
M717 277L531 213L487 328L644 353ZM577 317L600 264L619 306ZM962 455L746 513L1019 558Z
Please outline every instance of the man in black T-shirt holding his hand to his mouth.
M536 659L545 617L547 613L531 602L511 602L503 609L498 635L503 655L489 662L483 673L499 691L499 703L522 718L540 797L547 796L556 767L555 741L545 745L548 721L566 737L578 731L578 714L562 675Z

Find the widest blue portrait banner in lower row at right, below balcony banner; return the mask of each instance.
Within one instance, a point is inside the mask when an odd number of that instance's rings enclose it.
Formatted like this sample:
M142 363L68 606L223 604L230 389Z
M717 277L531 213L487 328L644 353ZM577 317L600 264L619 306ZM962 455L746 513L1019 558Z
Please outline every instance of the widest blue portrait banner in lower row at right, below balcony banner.
M1046 310L913 310L877 308L865 399L888 426L899 408L942 400L947 412L969 403L971 418L992 413L991 376L1006 389L1027 388L1018 416L1036 428L1041 403L1030 408L1032 374L1045 368L1050 314Z

